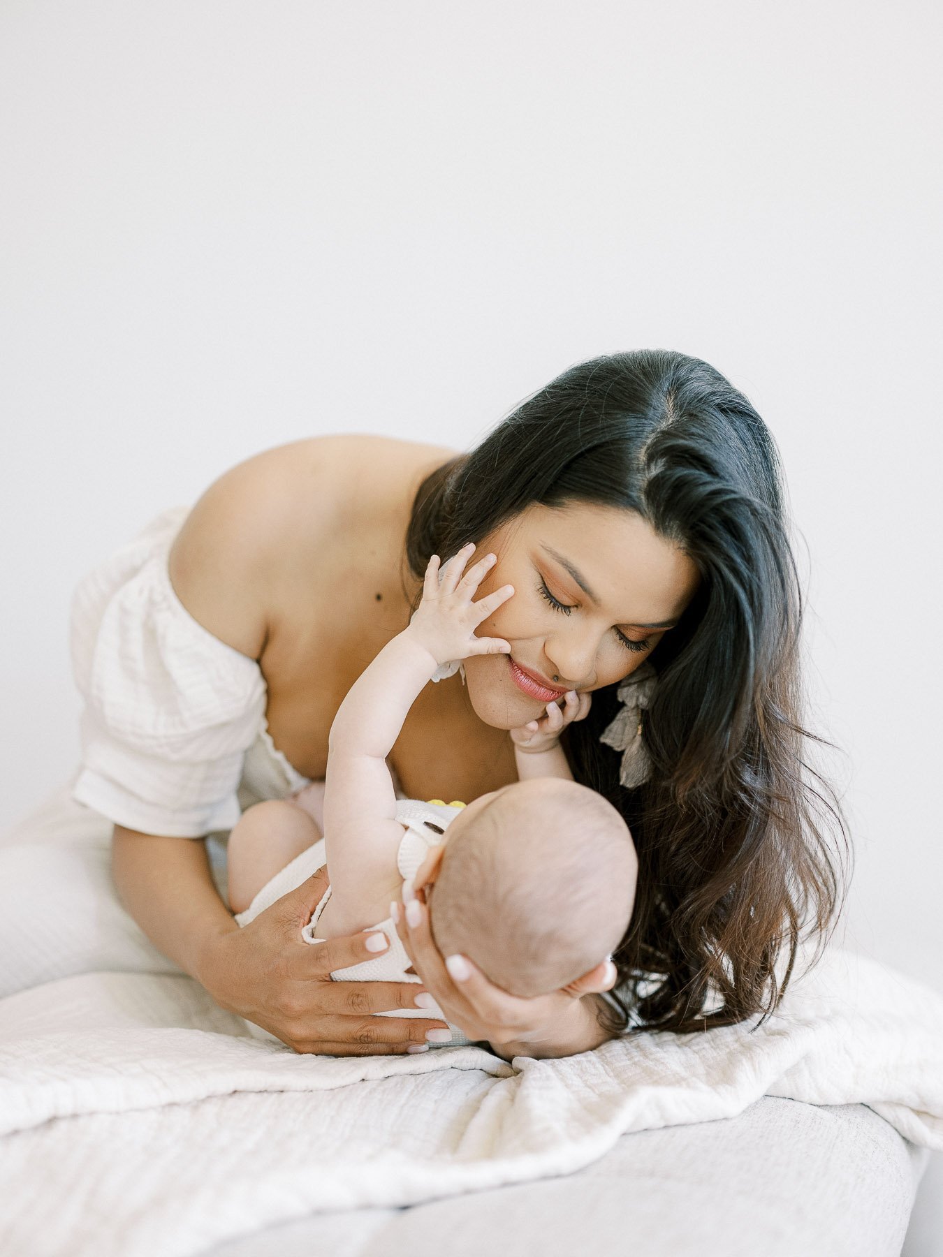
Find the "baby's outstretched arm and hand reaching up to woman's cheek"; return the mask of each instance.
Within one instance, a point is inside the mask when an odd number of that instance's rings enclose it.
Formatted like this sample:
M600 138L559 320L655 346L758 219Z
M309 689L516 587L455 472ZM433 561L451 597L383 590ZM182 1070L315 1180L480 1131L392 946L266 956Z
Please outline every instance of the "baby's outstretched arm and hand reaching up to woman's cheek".
M365 910L395 889L395 852L402 837L386 757L409 709L440 664L469 655L507 654L508 642L474 630L512 596L510 586L473 602L494 563L469 568L474 546L443 567L429 562L422 602L409 626L380 651L351 686L331 727L324 788L324 843L331 875L331 929L362 929Z

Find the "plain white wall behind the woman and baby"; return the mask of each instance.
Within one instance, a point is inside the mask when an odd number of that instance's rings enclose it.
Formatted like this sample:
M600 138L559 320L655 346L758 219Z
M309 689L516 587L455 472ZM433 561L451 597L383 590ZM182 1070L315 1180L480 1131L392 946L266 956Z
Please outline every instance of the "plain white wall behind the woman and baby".
M73 767L70 590L153 513L671 347L785 458L849 939L943 991L939 14L4 0L0 820Z

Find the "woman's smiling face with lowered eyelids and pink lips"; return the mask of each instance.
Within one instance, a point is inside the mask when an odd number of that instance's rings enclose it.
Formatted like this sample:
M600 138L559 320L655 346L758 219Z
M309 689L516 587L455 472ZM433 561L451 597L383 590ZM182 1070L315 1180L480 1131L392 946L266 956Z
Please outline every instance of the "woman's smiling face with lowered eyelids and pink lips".
M641 515L575 503L528 507L468 562L498 562L478 597L513 585L514 595L478 628L504 637L510 655L465 660L477 715L514 729L567 690L622 680L678 622L698 586L694 563Z

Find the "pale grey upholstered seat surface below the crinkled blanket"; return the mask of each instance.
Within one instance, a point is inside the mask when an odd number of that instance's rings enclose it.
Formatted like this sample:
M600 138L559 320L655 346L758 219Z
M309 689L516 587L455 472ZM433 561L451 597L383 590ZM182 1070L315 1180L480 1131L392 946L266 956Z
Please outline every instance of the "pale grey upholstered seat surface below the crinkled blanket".
M924 1156L864 1105L764 1097L565 1178L318 1213L207 1257L898 1257Z

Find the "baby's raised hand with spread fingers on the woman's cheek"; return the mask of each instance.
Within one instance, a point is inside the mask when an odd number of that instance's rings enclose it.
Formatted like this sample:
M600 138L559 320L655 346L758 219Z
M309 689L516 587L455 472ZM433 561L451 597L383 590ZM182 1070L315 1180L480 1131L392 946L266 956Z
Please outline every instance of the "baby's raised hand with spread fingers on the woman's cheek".
M465 572L465 563L475 544L463 546L439 571L439 556L433 554L422 583L422 601L416 607L406 632L433 655L436 664L469 655L509 655L510 644L502 637L477 637L475 628L493 615L514 593L513 585L503 585L478 602L472 598L478 586L497 562L485 554Z

